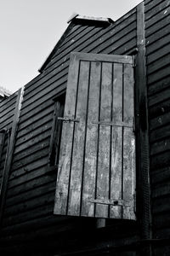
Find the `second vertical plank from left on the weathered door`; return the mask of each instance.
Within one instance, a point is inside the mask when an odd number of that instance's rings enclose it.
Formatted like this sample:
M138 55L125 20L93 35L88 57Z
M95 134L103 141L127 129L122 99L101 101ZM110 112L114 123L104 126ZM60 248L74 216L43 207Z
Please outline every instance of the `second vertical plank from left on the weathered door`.
M88 106L88 78L89 62L81 61L80 77L77 93L77 113L75 124L74 144L71 162L71 184L69 191L68 214L77 216L80 214L82 176L84 167L84 144L86 143L86 121Z

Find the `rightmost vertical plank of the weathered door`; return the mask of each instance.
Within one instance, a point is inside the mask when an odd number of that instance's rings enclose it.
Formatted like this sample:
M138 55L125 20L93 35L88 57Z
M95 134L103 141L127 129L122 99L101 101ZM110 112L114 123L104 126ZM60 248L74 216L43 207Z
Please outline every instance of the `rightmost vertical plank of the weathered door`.
M135 145L133 134L133 66L124 64L123 71L123 121L132 128L124 127L123 129L122 199L133 202L133 196L135 193L134 178L136 177ZM135 219L133 207L123 207L122 210L122 218Z

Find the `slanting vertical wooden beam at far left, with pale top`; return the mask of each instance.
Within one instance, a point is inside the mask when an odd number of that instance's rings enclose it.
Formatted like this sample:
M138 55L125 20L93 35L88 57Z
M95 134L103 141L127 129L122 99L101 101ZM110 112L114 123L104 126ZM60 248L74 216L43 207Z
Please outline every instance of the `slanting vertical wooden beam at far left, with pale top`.
M20 118L20 108L21 108L22 99L23 99L23 88L20 88L20 90L18 91L17 99L16 99L16 104L14 109L14 120L12 124L11 135L9 138L6 160L3 167L3 178L2 178L2 184L0 189L0 226L3 220L3 210L4 210L7 189L8 189L8 177L9 177L9 172L10 172L10 168L13 160L14 144L16 139L16 132L18 128L19 118Z

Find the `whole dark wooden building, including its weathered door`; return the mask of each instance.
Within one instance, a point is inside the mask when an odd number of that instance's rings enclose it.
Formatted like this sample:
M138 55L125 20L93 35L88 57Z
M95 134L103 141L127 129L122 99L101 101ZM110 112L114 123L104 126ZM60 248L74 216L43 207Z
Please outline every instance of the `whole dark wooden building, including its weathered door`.
M170 255L170 1L69 23L0 102L0 253Z

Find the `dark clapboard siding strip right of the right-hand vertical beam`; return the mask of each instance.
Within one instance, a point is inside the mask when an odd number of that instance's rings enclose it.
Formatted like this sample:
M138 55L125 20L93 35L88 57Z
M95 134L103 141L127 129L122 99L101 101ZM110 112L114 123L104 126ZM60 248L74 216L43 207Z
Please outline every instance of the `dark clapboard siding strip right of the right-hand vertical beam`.
M153 238L170 237L170 1L145 1ZM168 244L168 243L167 243ZM169 246L153 247L168 255Z

